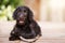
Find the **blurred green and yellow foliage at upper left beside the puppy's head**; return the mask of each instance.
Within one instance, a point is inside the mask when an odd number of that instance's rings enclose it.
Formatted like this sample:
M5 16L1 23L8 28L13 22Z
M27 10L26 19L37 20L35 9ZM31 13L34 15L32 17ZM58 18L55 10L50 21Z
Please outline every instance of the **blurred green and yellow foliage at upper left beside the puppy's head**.
M0 20L13 20L13 11L20 5L24 5L24 0L0 0Z

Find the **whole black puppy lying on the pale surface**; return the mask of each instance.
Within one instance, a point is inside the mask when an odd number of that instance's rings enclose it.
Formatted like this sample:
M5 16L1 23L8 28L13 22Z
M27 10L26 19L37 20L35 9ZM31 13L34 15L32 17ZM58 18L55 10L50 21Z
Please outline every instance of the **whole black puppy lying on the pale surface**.
M41 30L32 17L34 15L29 8L18 6L13 13L13 18L16 20L16 25L11 31L11 37L9 38L9 40L35 42L37 39L39 39L41 37Z

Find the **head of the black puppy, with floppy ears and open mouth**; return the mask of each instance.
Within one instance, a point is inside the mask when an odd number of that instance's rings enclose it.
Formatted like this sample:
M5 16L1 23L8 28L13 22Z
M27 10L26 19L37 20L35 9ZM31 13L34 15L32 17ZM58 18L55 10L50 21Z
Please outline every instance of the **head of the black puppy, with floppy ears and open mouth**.
M13 18L23 25L26 20L32 18L32 12L27 6L18 6L13 13Z

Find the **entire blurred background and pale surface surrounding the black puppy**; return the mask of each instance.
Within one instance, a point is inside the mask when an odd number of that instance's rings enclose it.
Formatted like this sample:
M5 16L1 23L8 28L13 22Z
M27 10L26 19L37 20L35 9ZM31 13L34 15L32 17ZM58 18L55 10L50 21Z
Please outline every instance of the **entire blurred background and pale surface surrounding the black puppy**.
M27 5L34 12L42 38L37 43L65 43L65 0L0 0L0 43L8 38L15 25L12 18L17 6Z

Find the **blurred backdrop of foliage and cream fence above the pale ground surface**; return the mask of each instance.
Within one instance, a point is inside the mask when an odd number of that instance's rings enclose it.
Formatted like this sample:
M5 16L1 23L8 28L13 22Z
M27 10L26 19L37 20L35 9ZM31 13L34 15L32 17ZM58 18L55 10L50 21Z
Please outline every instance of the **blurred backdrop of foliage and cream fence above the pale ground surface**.
M21 5L29 6L36 20L65 22L65 0L0 0L0 20L13 20L13 12Z

